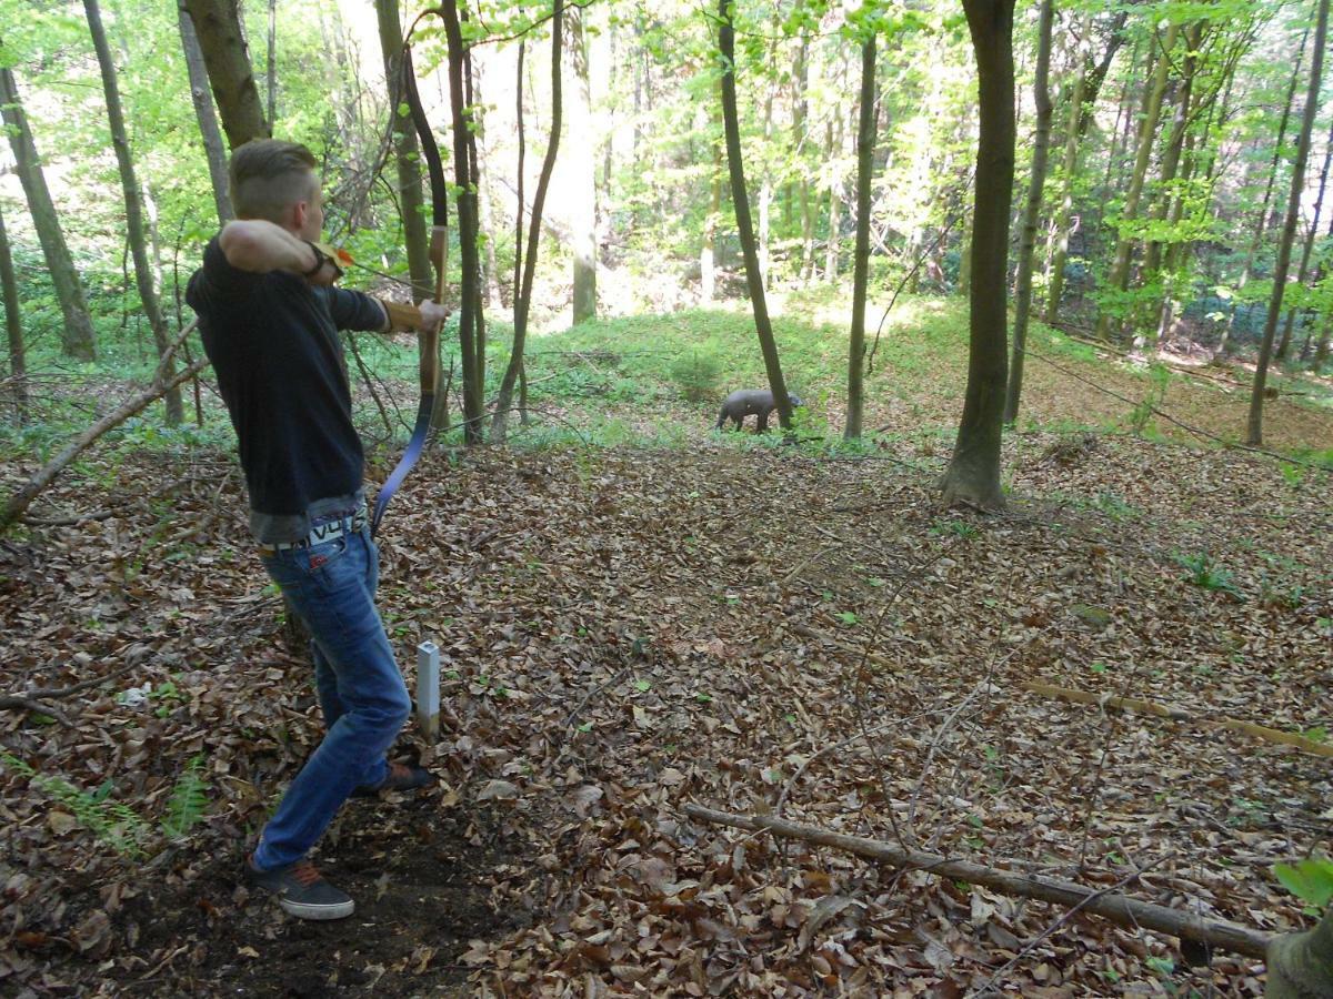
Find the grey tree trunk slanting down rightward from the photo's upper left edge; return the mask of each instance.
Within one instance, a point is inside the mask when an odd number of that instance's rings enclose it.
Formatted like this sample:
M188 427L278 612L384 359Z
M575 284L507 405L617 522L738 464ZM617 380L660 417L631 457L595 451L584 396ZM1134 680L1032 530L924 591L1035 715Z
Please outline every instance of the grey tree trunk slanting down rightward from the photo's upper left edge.
M65 245L60 217L51 200L51 189L41 170L37 147L28 128L28 116L19 101L19 84L11 69L0 68L0 117L8 125L9 147L13 149L15 168L23 182L23 193L28 200L28 213L41 242L41 253L47 260L47 270L56 289L64 325L60 342L64 353L77 361L92 361L97 356L92 317L84 300L83 284L75 270L69 248Z

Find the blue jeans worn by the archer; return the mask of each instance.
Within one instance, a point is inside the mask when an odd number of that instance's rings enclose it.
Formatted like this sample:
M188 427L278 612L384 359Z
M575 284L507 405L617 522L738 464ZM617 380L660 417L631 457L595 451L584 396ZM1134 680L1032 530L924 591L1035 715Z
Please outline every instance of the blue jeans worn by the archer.
M375 609L380 558L369 529L263 561L312 635L328 727L260 834L255 863L271 870L301 859L359 785L385 778L412 701Z

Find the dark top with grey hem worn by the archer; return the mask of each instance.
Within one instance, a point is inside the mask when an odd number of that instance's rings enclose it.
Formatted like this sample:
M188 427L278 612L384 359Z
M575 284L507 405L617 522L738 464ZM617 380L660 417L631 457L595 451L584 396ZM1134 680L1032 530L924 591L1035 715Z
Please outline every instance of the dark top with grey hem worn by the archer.
M185 301L240 441L252 527L265 542L304 537L312 515L361 489L364 453L337 332L380 329L380 306L285 270L240 270L216 237Z

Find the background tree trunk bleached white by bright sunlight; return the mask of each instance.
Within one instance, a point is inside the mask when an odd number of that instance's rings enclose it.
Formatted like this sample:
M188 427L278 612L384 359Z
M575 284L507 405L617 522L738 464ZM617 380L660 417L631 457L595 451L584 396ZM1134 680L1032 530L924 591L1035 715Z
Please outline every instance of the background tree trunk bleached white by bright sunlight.
M583 11L571 12L569 63L575 71L575 99L569 116L569 135L579 141L571 147L568 160L569 232L573 250L573 325L597 318L597 163L592 125L592 88L588 71L588 40L584 36Z

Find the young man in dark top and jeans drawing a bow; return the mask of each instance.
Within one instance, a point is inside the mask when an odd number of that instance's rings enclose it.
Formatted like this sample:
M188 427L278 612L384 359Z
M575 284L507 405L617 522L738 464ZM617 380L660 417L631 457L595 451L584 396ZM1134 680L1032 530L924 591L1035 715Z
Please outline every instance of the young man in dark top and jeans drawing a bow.
M448 310L333 286L341 269L319 242L315 165L295 143L263 139L236 149L237 221L208 244L187 301L236 429L260 557L313 639L328 726L247 856L245 875L295 916L340 919L352 914L352 899L307 854L349 797L433 778L387 758L411 699L375 609L379 551L339 330L433 332Z

